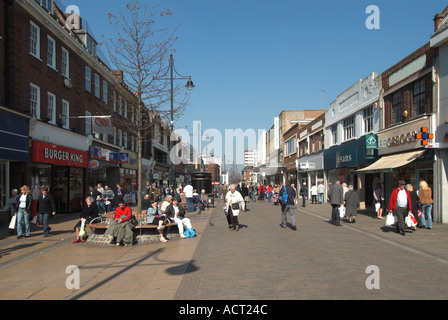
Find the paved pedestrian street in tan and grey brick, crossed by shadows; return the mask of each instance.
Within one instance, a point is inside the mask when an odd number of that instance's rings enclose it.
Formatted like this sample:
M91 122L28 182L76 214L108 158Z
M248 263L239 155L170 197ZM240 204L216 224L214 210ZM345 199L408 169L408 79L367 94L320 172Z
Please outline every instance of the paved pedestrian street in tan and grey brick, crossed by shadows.
M198 236L133 247L72 244L76 215L50 222L50 237L0 234L0 299L308 300L447 299L448 226L401 236L373 212L328 222L328 204L297 207L297 231L280 207L249 203L240 230L222 210L189 214ZM79 271L79 288L76 275ZM370 287L370 289L369 289Z

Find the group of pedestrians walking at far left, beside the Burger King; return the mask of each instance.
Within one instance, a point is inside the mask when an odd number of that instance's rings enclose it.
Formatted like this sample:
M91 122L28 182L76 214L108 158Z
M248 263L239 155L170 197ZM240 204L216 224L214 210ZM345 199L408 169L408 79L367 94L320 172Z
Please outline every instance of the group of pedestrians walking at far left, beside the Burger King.
M27 185L20 187L20 193L17 189L11 191L11 197L5 207L10 212L10 233L17 228L17 239L23 237L29 238L31 233L31 215L33 214L33 202L36 200L35 212L36 224L43 226L43 237L48 237L51 230L49 218L56 214L56 205L53 196L48 192L48 187L40 188L41 193L37 199L33 199L31 189Z

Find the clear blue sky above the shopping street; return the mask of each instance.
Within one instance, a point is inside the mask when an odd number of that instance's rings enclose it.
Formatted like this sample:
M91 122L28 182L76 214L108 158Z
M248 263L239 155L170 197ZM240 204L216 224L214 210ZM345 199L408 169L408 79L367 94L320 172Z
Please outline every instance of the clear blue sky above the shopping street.
M107 13L125 0L62 0L101 41ZM176 127L269 129L282 110L320 109L372 72L381 73L429 41L440 0L141 0L171 9L176 69L191 75L191 107ZM366 28L366 8L380 29Z

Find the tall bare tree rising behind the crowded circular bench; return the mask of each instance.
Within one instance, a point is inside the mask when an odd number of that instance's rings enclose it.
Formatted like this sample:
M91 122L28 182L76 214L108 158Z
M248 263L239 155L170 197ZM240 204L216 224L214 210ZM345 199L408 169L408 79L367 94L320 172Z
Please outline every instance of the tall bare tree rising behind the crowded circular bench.
M144 7L138 0L126 4L126 10L120 15L108 13L109 24L116 34L107 39L105 45L111 63L123 71L123 82L137 100L138 123L135 135L138 139L138 212L141 210L143 185L142 146L146 139L151 139L147 135L150 128L170 115L170 111L162 110L171 100L170 83L157 79L168 73L169 55L174 51L172 45L177 40L177 28L158 29L156 18L171 15L169 9L158 11L156 7ZM188 102L189 95L184 89L181 86L173 89L177 100L174 109L176 115L182 113Z

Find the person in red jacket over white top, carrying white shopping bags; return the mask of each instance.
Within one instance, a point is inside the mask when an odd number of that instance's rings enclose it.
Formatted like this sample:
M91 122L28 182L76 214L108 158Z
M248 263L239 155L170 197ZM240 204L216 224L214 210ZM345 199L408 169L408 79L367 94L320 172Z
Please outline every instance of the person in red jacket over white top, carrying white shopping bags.
M404 217L408 212L412 212L411 195L405 189L406 182L404 180L398 181L398 188L392 191L389 200L389 212L395 212L397 217L397 232L405 236L404 232Z

